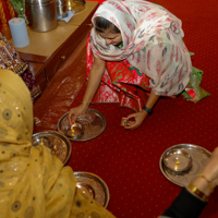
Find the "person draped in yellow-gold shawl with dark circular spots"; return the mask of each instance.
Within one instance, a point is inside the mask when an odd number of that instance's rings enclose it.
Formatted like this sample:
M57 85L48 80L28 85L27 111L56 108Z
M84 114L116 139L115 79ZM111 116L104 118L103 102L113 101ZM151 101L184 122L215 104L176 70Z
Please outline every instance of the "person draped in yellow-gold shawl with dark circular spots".
M33 104L22 78L0 70L0 218L113 218L76 189L70 167L32 146Z

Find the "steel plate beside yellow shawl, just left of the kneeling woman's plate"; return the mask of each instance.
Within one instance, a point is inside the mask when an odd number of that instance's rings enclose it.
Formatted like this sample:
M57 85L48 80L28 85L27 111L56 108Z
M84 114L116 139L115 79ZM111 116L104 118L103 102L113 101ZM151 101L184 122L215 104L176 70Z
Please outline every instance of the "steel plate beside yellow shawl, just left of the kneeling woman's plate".
M71 142L63 134L56 131L43 131L35 133L33 137L49 137L51 141L51 154L56 155L65 165L71 157L72 148Z

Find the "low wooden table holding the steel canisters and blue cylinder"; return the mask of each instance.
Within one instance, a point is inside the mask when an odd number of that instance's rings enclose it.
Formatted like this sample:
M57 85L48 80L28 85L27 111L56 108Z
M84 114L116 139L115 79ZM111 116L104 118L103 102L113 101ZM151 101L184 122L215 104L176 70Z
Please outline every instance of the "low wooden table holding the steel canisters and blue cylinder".
M75 13L69 23L59 21L58 27L50 32L38 33L27 27L31 44L16 50L28 61L41 90L90 31L97 7L97 1L86 1L83 11Z

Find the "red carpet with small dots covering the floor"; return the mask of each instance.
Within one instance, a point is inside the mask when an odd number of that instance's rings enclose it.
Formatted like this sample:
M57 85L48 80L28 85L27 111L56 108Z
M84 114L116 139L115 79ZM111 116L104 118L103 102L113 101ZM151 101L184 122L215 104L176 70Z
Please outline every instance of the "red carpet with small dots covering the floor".
M93 172L110 190L108 209L117 217L154 218L179 194L181 187L168 181L159 169L159 158L168 147L190 143L213 152L218 145L217 39L218 8L213 0L157 0L183 22L185 44L193 51L193 65L204 71L202 87L211 94L196 105L183 100L160 99L141 128L126 131L122 117L133 111L117 104L92 105L107 119L98 137L72 142L69 166L74 171ZM85 40L35 102L35 116L41 123L35 132L57 130L59 118L77 106L85 86ZM83 87L82 87L83 86ZM218 192L209 198L201 218L218 217Z

